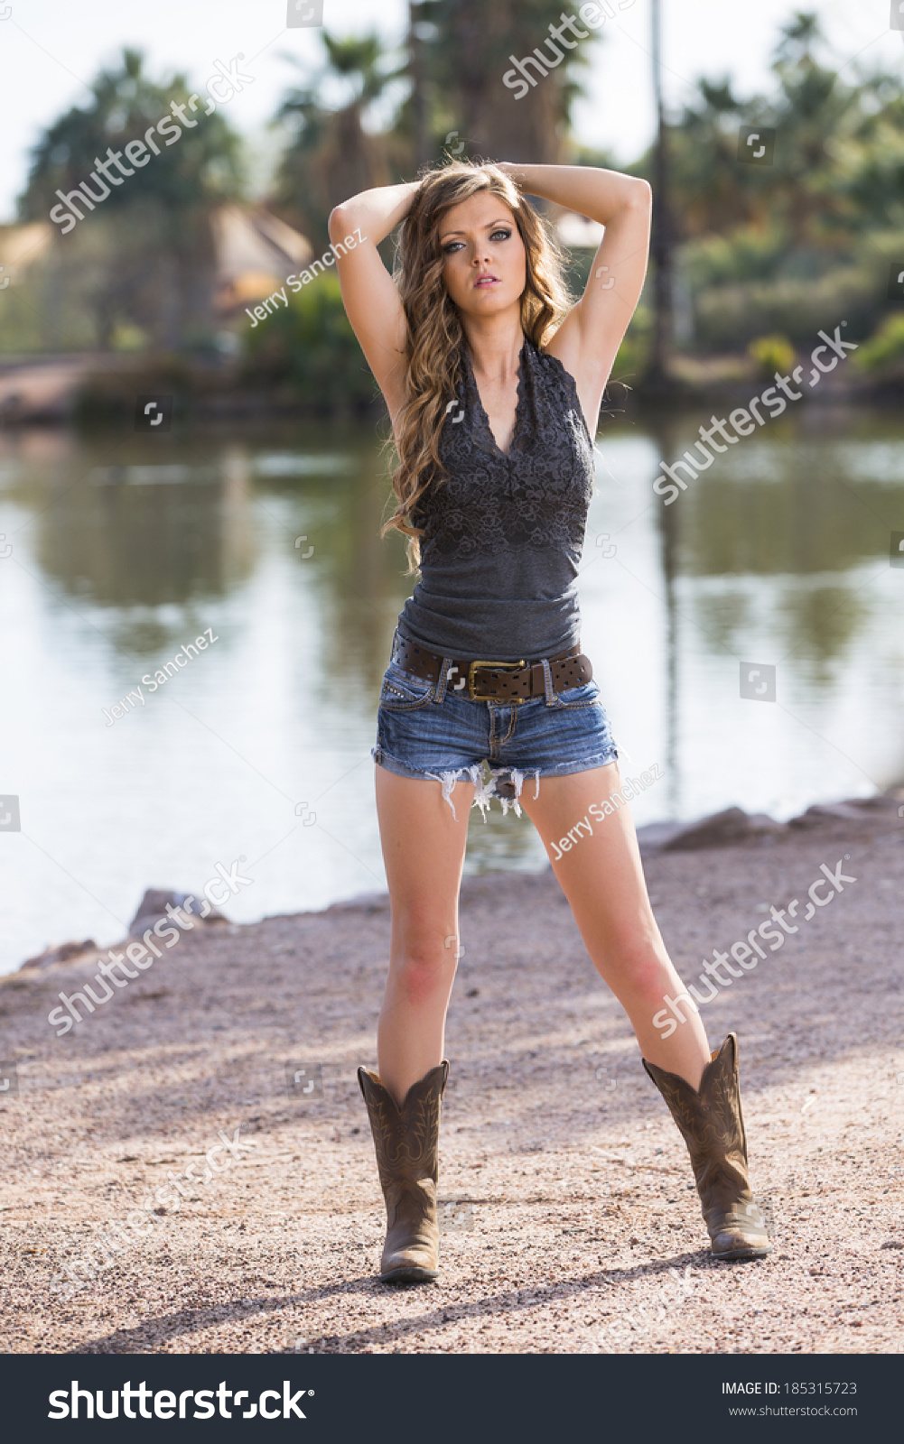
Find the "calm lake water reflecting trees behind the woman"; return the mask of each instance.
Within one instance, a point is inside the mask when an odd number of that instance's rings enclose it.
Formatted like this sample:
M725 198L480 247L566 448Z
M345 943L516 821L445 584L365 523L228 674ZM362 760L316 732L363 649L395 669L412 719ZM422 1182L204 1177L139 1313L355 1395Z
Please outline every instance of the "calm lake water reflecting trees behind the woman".
M904 420L812 404L664 507L659 461L710 412L598 438L582 643L625 773L663 771L638 825L904 781ZM386 501L373 429L0 430L0 972L218 862L253 879L235 921L384 887L370 748L413 585ZM469 872L544 864L527 817L472 812Z

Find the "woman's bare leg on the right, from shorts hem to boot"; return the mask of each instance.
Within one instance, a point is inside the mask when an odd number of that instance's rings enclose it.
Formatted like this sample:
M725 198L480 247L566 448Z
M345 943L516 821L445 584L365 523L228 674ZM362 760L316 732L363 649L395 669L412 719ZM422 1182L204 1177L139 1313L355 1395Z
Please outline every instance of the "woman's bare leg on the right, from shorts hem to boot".
M653 1025L663 995L684 992L653 917L640 861L634 822L622 804L598 822L591 803L601 804L620 787L618 765L595 767L566 777L543 777L540 796L521 793L521 806L534 823L553 872L565 892L596 970L624 1006L644 1058L677 1073L699 1087L709 1063L706 1032L696 1012L669 1038ZM565 838L575 823L586 826L572 836L570 851L556 862L550 843Z

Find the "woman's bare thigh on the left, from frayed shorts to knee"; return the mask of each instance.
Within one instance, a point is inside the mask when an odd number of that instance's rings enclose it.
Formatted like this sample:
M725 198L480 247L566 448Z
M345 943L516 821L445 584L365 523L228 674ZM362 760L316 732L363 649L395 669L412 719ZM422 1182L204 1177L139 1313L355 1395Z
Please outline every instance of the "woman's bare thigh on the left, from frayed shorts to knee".
M442 797L439 781L399 777L375 768L380 843L390 891L393 959L425 949L456 949L458 894L468 840L474 783L455 786L456 816Z

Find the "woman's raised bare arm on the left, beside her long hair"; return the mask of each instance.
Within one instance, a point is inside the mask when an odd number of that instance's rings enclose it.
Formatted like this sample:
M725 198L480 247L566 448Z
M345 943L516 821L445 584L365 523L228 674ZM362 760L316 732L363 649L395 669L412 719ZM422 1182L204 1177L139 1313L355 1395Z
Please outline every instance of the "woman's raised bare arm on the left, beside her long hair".
M419 185L409 180L361 191L329 215L332 244L354 240L347 254L336 254L342 303L393 422L404 397L406 319L377 245L404 219Z

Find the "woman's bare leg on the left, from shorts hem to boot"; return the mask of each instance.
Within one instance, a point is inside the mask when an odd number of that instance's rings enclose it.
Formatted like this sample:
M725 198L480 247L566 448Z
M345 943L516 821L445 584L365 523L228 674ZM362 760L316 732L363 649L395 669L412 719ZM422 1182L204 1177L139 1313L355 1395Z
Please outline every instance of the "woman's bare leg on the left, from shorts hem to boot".
M380 1079L397 1103L443 1056L458 963L458 894L474 783L452 791L377 765L377 817L390 890L390 970L377 1030Z

